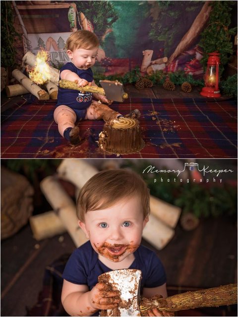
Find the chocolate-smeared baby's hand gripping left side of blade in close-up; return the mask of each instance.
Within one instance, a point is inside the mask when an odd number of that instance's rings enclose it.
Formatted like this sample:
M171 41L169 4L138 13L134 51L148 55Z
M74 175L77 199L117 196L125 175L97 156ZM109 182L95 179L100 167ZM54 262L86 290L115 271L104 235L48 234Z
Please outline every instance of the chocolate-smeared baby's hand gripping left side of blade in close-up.
M93 308L107 310L118 307L120 292L110 291L104 283L97 283L90 291L89 301Z

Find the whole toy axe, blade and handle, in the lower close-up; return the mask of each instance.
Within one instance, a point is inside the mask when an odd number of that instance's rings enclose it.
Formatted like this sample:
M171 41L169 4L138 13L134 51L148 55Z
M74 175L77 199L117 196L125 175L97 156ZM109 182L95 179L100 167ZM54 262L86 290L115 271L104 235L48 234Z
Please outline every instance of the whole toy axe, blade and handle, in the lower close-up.
M120 292L120 303L115 309L101 311L100 316L147 316L149 309L175 312L199 307L217 307L237 303L237 284L229 284L200 291L186 292L161 298L140 300L142 273L137 269L119 269L101 274L98 281Z

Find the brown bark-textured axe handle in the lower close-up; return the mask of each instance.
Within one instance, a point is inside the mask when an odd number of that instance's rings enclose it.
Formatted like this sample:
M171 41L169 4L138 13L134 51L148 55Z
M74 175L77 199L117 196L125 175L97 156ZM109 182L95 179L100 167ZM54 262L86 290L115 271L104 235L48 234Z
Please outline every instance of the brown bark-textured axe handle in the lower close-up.
M160 311L181 311L199 307L216 307L237 303L237 284L229 284L201 291L186 292L161 299L144 298L140 303L141 316L148 309L157 307Z

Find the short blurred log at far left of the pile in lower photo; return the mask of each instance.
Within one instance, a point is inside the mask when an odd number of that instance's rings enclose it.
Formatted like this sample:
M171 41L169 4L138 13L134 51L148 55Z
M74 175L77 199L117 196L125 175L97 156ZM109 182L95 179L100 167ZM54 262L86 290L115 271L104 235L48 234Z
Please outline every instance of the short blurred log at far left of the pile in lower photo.
M55 211L47 211L29 218L33 237L40 241L66 231L64 224Z

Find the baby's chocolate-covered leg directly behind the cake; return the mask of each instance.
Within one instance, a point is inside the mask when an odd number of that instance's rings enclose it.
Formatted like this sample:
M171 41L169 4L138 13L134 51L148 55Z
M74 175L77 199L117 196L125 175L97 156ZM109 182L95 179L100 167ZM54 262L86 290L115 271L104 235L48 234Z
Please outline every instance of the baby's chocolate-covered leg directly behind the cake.
M88 120L101 120L110 122L117 117L121 116L118 111L111 109L109 106L92 101L92 104L88 107L85 119Z

